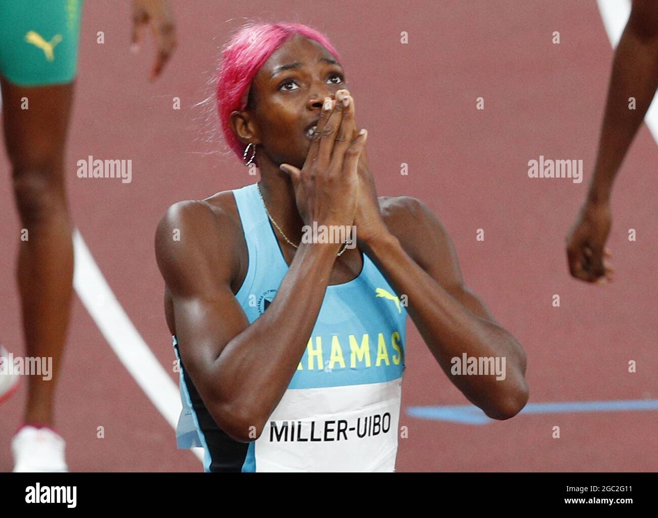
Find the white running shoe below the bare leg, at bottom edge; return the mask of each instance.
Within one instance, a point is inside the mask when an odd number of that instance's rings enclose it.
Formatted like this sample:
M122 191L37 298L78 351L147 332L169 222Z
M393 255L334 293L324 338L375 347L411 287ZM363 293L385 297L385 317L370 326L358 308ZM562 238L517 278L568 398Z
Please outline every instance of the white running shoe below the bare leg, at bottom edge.
M14 473L68 471L64 439L49 428L22 427L11 441Z

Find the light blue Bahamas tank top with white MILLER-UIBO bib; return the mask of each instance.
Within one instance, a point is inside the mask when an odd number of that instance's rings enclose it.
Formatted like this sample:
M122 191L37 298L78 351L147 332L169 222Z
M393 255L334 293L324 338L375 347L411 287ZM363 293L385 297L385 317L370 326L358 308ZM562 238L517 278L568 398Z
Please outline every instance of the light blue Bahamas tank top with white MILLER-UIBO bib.
M276 296L288 265L257 185L233 194L249 252L236 299L251 323ZM297 371L249 444L242 471L395 470L407 319L400 302L367 254L358 277L327 287ZM194 426L184 422L193 412L182 395L179 438Z

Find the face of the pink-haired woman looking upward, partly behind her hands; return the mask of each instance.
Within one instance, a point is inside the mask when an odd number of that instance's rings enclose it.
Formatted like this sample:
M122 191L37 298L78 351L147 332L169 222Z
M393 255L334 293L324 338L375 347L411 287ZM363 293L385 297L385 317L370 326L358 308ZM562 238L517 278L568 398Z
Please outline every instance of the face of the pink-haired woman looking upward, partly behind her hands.
M324 98L346 87L342 66L316 41L298 35L276 49L251 83L248 111L261 152L277 167L301 169Z

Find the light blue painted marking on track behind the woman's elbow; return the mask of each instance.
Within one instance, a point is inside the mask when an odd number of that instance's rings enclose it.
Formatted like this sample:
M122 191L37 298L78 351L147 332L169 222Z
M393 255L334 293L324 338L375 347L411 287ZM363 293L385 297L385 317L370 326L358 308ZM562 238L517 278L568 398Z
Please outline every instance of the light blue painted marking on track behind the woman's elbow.
M407 415L418 419L449 421L466 425L486 425L493 421L474 405L411 406ZM519 413L632 412L658 410L658 399L622 401L567 401L528 403Z

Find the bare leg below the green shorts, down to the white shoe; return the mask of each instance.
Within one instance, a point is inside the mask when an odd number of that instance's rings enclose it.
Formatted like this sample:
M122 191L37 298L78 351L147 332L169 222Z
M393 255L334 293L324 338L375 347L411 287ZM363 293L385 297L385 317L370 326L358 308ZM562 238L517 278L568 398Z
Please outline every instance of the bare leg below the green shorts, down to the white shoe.
M2 80L5 143L12 166L26 356L53 358L52 378L28 377L25 422L53 425L55 385L71 306L72 226L64 185L64 142L73 84L20 87ZM27 109L25 108L27 104ZM16 232L16 239L21 234Z

